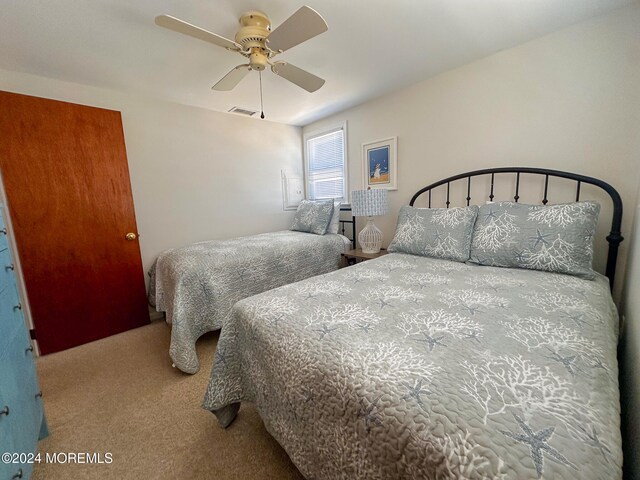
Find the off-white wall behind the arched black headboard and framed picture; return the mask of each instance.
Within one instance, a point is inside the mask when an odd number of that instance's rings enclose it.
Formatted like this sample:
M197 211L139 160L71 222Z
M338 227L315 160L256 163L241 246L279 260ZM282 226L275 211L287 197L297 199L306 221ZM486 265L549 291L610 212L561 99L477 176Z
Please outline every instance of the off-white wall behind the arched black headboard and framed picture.
M398 190L390 192L393 214L376 219L386 243L393 236L397 211L415 191L477 168L520 165L582 173L610 182L626 205L632 205L640 152L638 25L636 4L325 118L303 131L347 121L351 190L362 188L362 143L398 136ZM412 54L420 61L419 50ZM555 200L560 199L551 198ZM629 214L624 217L626 236L631 219ZM623 243L619 268L625 253Z

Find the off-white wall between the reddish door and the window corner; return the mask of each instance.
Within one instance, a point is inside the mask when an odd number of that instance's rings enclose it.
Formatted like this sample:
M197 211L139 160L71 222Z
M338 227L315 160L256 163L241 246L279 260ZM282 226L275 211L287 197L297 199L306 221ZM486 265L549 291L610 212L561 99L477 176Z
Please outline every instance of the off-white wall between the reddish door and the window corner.
M145 270L166 248L289 225L280 171L302 175L298 127L4 70L0 90L122 112Z

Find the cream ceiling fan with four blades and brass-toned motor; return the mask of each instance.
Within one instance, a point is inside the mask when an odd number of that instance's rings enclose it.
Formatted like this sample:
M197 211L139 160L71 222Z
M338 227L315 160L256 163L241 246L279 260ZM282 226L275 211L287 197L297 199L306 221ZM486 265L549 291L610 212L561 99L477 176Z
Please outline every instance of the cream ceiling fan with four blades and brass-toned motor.
M249 71L257 70L262 74L262 70L267 65L276 75L308 92L315 92L324 85L322 78L295 65L283 61L272 61L276 55L327 31L327 22L311 7L301 7L273 31L271 31L271 20L266 14L259 11L244 13L240 17L240 29L236 33L235 41L170 15L157 16L156 25L213 43L249 59L249 63L238 65L222 77L212 87L213 90L232 90Z

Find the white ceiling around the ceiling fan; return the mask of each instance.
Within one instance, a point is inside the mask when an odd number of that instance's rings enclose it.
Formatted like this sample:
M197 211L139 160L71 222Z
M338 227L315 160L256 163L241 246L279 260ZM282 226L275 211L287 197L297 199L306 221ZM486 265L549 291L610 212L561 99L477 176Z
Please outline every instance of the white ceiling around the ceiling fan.
M211 86L245 59L157 27L169 14L234 38L240 14L274 27L305 0L0 0L0 68L228 111L259 110L258 74ZM269 120L305 125L633 0L306 0L329 31L279 56L326 79L315 93L263 74Z

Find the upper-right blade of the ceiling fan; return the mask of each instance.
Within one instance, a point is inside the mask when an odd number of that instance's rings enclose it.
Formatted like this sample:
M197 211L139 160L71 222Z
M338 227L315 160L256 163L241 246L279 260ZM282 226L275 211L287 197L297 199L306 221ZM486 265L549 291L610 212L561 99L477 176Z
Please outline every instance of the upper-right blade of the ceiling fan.
M313 8L305 5L269 34L268 45L276 51L289 50L328 29L324 18Z

